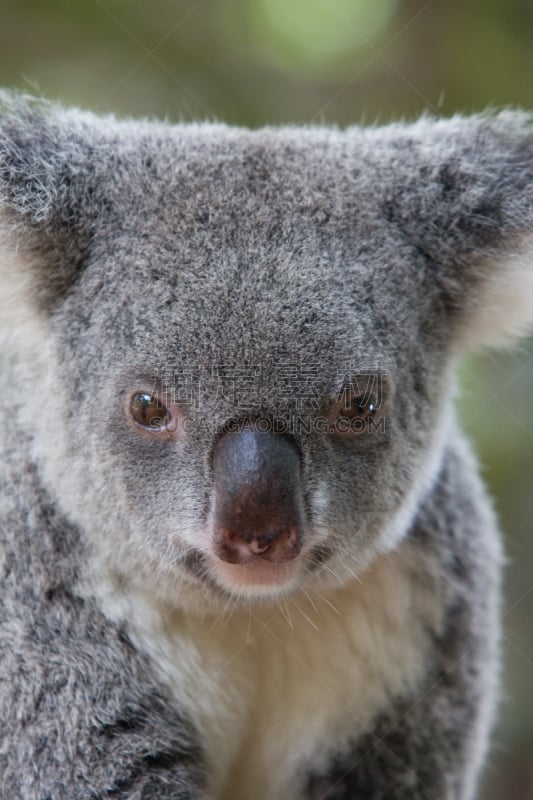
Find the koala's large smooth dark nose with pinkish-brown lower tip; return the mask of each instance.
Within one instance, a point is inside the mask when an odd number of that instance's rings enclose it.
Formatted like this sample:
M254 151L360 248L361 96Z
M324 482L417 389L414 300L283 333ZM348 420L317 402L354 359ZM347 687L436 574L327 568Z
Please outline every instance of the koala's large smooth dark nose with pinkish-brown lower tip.
M288 438L241 430L214 450L214 549L223 561L282 563L301 549L300 454Z

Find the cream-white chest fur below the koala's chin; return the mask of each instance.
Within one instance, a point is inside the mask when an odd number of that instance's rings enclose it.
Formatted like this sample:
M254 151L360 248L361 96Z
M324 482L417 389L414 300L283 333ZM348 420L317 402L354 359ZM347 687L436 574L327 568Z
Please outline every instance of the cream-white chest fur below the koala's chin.
M208 757L209 800L297 800L306 767L369 730L391 695L420 680L439 604L427 564L408 544L360 582L251 605L219 618L168 611L138 589L107 593L129 620Z

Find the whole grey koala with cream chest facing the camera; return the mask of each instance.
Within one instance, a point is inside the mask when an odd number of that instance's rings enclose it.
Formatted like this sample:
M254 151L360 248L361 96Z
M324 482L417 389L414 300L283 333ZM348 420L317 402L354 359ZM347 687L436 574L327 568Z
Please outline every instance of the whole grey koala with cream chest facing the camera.
M533 324L527 113L0 99L5 800L472 800L502 548L454 371Z

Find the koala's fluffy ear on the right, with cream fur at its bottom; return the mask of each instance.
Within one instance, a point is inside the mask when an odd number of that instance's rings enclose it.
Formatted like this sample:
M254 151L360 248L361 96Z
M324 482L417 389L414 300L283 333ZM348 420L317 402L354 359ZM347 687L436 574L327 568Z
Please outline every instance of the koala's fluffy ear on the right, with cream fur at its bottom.
M424 258L456 350L533 330L533 115L423 118L384 130L397 176L387 215Z

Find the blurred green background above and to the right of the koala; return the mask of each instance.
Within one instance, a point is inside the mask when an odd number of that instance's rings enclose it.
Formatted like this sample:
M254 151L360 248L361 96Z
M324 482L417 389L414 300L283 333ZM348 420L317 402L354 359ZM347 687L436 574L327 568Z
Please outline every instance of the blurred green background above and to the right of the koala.
M533 0L0 0L0 84L98 111L386 122L533 108ZM458 401L506 532L505 683L483 800L533 798L533 341Z

